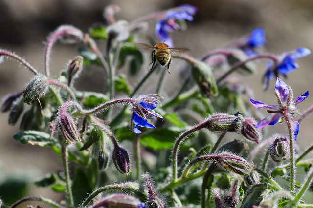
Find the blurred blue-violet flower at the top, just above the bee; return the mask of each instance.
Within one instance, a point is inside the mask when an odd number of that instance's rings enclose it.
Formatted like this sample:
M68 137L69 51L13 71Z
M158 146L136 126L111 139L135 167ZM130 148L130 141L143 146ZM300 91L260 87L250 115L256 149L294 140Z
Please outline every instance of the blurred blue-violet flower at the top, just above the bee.
M173 47L173 39L168 32L180 30L184 24L184 20L193 21L193 15L197 12L197 8L189 4L182 4L177 8L167 12L165 19L160 19L156 23L156 37L166 42L169 47Z

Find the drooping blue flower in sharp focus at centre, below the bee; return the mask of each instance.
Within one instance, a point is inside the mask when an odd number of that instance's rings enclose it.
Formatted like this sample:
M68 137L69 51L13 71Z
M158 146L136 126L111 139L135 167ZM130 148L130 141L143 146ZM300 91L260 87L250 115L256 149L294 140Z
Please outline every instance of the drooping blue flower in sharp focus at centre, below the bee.
M133 103L133 115L131 118L131 128L132 131L135 133L141 133L141 131L138 129L139 126L146 127L146 128L156 128L155 125L149 123L147 119L150 120L156 120L156 118L162 118L163 117L156 113L153 109L157 107L157 104L160 103L160 101L153 96L159 96L159 95L140 95L138 102ZM161 97L161 96L159 96ZM133 128L133 123L135 124L135 127Z

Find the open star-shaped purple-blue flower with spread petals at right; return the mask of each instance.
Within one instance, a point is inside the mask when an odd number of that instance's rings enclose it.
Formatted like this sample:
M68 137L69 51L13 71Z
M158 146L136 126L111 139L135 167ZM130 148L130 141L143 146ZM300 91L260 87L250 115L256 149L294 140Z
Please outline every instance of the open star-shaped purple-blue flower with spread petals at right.
M280 78L277 78L275 84L275 95L277 97L278 105L268 105L264 102L253 100L250 98L250 102L257 108L268 108L268 113L270 113L266 118L260 121L256 128L262 129L267 125L275 125L278 121L283 122L284 112L287 112L292 118L297 112L298 109L296 105L305 100L309 96L309 91L305 92L303 95L298 96L292 102L293 92L290 86L286 85ZM299 132L299 125L295 122L294 134L295 136Z

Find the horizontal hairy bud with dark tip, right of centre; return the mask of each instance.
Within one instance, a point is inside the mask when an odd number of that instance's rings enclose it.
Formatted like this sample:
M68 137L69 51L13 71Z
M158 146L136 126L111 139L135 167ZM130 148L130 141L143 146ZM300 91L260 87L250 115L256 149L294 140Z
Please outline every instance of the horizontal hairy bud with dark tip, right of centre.
M237 113L218 113L211 115L205 122L205 127L212 132L240 132L242 116Z

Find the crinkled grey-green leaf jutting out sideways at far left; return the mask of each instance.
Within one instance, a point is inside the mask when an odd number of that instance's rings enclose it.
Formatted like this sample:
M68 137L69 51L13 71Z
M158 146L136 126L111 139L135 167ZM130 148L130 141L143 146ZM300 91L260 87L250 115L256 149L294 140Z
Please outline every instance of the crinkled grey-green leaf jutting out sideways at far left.
M55 138L50 139L50 134L39 131L24 131L16 133L13 138L21 144L38 145L41 147L52 147L58 145Z

